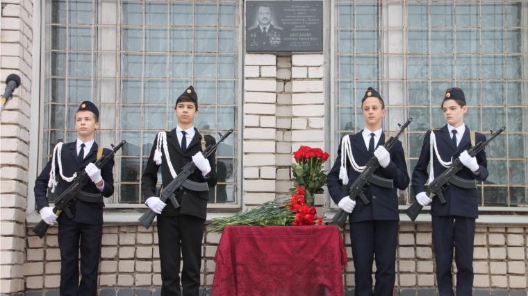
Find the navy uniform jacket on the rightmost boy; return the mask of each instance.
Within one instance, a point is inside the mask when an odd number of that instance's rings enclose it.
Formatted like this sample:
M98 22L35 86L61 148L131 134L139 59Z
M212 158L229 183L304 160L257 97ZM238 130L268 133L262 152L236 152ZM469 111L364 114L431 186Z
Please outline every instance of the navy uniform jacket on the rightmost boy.
M468 128L468 125L465 126L465 132L460 140L459 146L456 148L451 139L451 134L449 134L449 130L447 129L447 124L440 128L440 130L434 130L434 134L436 137L438 154L442 157L444 162L450 162L451 157L453 157L453 159L458 158L464 150L470 150L471 148L470 129ZM428 130L424 137L424 143L422 144L422 152L420 152L418 164L416 164L413 171L412 183L415 194L426 191L424 184L427 184L429 180L429 158L431 157L431 152L429 150L430 139L431 130ZM486 141L486 136L479 132L475 132L475 143L479 143L480 141ZM465 180L485 181L488 177L486 152L482 150L476 157L477 163L480 166L480 174L478 176L473 175L470 169L465 166L459 171L459 173L456 173L456 175ZM435 177L438 177L446 169L440 164L440 162L438 162L438 159L436 159L436 153L434 153L433 168ZM443 195L446 201L445 204L440 204L438 198L433 198L433 202L431 203L431 215L478 218L479 191L477 189L462 189L451 185L446 191L443 191Z

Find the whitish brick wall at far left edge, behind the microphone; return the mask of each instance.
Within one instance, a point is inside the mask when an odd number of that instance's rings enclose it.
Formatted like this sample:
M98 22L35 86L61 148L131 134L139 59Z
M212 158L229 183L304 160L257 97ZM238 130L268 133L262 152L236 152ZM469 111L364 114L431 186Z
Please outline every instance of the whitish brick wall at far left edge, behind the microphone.
M2 0L1 6L1 92L9 74L16 73L22 80L0 115L0 293L8 294L24 290L33 1Z

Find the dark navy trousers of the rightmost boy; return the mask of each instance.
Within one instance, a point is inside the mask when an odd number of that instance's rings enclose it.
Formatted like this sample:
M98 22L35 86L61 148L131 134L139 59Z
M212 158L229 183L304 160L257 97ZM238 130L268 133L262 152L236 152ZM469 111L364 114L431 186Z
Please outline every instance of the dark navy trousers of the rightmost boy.
M456 295L472 295L475 218L432 216L436 282L440 296L454 296L453 247L456 263Z

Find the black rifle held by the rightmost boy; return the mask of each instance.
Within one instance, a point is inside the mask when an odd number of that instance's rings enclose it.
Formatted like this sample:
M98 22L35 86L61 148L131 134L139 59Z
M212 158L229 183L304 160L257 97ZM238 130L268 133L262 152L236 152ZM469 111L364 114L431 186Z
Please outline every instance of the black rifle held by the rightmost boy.
M475 145L475 147L472 147L470 150L468 150L468 155L470 157L475 157L481 150L483 150L488 143L493 141L501 132L506 130L506 127L503 126L500 128L500 130L497 130L497 132L493 132L493 130L490 130L491 137L490 139L486 140L485 142L480 141ZM429 162L432 162L433 159L429 159ZM438 196L440 199L441 204L445 204L445 198L442 194L442 191L446 191L447 188L450 186L450 184L453 184L455 186L461 187L463 189L475 189L477 188L477 184L475 183L475 180L465 180L461 177L457 177L456 173L459 173L459 171L464 167L462 162L459 158L454 159L451 166L447 168L442 174L440 174L438 177L436 177L433 182L431 182L427 188L427 191L425 194L429 196L430 198L434 198L434 195ZM407 216L411 218L411 220L416 220L416 217L418 217L418 214L420 214L420 211L422 211L423 206L417 202L411 205L409 209L405 211Z

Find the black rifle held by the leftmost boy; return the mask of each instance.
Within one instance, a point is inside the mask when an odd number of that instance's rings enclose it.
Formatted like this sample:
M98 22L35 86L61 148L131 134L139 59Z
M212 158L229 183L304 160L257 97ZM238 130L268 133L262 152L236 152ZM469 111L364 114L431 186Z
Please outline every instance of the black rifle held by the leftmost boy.
M113 151L112 153L109 153L108 155L103 155L99 159L97 159L96 162L94 162L95 166L97 168L102 168L108 160L110 160L112 157L114 157L115 153L117 153L117 150L119 150L126 141L121 141L117 146L112 146ZM55 213L57 216L60 215L63 211L66 213L66 216L68 216L69 219L73 219L74 216L72 215L72 212L69 211L69 207L74 204L76 197L75 195L81 191L81 189L88 184L88 181L90 180L90 176L84 171L80 170L77 172L77 177L73 180L72 184L69 185L68 189L61 194L57 200L55 201L55 207L53 207L53 213ZM35 225L31 230L35 232L35 234L38 235L38 237L43 238L48 230L49 225L44 222L44 220L40 220L40 222Z

